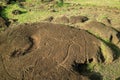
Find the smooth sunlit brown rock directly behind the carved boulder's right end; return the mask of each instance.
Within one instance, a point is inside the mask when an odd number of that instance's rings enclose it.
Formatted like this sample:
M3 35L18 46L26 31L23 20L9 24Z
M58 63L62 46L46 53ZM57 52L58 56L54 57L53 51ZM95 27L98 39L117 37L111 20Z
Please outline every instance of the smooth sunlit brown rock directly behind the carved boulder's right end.
M115 29L106 26L103 23L97 21L90 21L82 27L83 29L91 32L97 37L102 38L103 40L109 41L117 45L120 41L120 33Z

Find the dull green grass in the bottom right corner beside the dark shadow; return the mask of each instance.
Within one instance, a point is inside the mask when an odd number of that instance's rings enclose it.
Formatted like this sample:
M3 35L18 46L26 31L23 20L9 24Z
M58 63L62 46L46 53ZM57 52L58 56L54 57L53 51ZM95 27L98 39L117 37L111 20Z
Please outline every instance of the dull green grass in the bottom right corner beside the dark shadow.
M116 60L112 64L101 64L97 66L97 71L103 75L103 80L115 80L120 77L120 59Z

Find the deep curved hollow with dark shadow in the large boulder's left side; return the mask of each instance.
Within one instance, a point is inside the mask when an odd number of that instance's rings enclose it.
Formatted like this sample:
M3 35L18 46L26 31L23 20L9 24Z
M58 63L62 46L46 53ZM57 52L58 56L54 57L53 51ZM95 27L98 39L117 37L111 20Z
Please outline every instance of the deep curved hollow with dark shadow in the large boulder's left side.
M34 51L39 47L40 44L40 37L37 35L32 35L27 37L28 43L26 43L23 47L13 50L11 53L11 57L19 57L24 56L31 51Z

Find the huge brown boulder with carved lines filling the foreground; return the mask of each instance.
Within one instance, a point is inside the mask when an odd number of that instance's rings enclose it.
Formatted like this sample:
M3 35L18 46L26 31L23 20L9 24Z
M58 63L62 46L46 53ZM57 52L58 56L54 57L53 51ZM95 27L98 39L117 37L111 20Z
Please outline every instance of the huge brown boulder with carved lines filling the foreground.
M74 63L101 57L97 38L66 25L24 24L0 34L0 80L89 80Z

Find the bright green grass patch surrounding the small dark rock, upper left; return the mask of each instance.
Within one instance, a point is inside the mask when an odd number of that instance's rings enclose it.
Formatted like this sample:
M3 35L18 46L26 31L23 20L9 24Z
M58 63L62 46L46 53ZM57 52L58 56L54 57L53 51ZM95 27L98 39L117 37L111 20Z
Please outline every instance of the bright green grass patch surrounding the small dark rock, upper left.
M25 7L28 7L28 5ZM20 10L25 13L14 15L12 14L13 10ZM4 18L18 19L19 23L37 22L45 16L49 16L49 14L47 10L37 11L34 9L33 11L28 11L27 8L21 8L18 3L8 5L1 13Z

